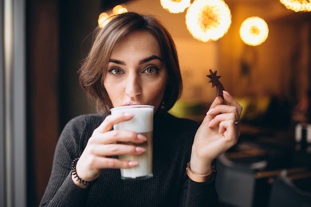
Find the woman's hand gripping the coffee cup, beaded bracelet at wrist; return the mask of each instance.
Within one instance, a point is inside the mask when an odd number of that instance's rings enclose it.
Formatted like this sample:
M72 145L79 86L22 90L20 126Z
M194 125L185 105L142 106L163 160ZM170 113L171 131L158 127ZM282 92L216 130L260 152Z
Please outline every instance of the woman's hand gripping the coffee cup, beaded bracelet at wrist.
M114 124L125 122L134 117L134 114L122 113L109 115L93 131L77 162L76 171L84 181L93 181L99 177L103 168L132 168L138 165L137 161L127 161L111 158L113 155L140 155L145 148L120 144L117 142L143 143L147 138L141 134L126 130L111 130ZM74 178L72 180L81 188L86 188Z

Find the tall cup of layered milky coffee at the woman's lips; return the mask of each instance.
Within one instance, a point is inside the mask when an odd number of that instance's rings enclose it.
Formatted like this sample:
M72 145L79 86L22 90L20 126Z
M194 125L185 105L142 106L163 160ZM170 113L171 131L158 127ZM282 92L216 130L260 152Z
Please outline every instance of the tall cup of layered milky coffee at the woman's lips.
M123 180L143 180L153 177L153 129L154 129L154 106L131 105L120 106L110 109L111 114L132 113L135 116L126 122L120 122L113 126L114 130L129 130L137 132L147 137L147 141L142 144L132 142L121 142L144 147L146 151L141 155L119 155L120 160L137 161L138 165L130 169L121 169L121 179Z

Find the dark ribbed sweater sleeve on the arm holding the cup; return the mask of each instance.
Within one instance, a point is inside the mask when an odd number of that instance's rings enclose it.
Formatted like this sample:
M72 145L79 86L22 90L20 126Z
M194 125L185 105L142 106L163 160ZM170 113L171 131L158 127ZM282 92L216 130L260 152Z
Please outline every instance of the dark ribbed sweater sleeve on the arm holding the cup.
M71 179L72 161L82 153L95 127L86 128L84 118L70 121L56 146L52 172L39 207L83 207L89 189L79 188ZM95 126L95 125L94 125Z

